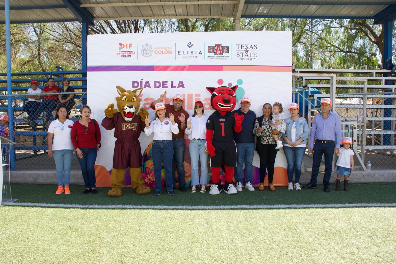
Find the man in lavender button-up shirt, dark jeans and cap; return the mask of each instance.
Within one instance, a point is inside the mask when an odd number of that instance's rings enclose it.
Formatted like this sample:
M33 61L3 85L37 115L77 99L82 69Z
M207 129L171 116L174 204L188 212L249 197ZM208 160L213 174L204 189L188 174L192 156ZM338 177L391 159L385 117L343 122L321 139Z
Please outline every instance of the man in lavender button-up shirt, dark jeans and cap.
M314 154L312 162L312 176L310 182L303 189L316 189L316 178L318 178L320 161L324 154L324 191L329 192L331 165L333 153L338 153L341 145L341 121L336 113L330 111L330 98L323 98L320 102L321 113L316 115L312 123L309 149Z

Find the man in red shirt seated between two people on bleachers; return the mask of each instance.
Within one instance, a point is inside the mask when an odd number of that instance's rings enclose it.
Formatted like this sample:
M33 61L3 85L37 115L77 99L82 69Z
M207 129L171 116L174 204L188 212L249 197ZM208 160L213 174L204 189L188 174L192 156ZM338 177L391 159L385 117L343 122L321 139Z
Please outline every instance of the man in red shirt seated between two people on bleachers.
M47 86L42 89L42 94L51 94L59 92L59 86L55 85L55 80L51 77L47 80ZM40 103L38 110L29 117L30 121L34 122L37 117L46 109L46 115L43 117L43 121L47 122L52 119L52 111L55 109L57 103L59 102L58 95L48 95L44 96L44 100Z

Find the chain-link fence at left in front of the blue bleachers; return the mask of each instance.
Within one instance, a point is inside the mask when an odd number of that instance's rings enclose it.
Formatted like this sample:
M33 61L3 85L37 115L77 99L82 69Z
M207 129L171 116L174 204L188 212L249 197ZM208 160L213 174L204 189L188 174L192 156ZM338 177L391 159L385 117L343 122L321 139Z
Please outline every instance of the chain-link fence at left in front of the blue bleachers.
M67 96L72 99L67 102L59 101L58 97ZM55 161L48 157L48 126L55 119L56 109L60 105L67 108L69 119L80 119L79 109L86 101L86 92L53 93L56 100L42 99L44 94L12 94L12 117L7 111L2 115L8 116L8 124L2 123L0 134L12 142L2 142L3 170L55 170ZM48 94L46 94L48 96ZM6 109L10 96L0 96L0 106ZM0 117L1 118L1 117ZM13 136L10 137L10 133ZM72 158L72 170L80 170L75 155Z

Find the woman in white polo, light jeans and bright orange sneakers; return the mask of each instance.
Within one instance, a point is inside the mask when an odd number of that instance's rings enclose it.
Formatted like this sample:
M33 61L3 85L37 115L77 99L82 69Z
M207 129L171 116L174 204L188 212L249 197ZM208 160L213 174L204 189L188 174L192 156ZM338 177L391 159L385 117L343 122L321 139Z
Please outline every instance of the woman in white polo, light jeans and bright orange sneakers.
M70 167L73 157L73 144L70 139L73 121L67 119L64 106L56 110L55 120L48 127L48 157L53 157L56 166L58 189L55 194L70 194ZM65 188L63 188L65 186Z

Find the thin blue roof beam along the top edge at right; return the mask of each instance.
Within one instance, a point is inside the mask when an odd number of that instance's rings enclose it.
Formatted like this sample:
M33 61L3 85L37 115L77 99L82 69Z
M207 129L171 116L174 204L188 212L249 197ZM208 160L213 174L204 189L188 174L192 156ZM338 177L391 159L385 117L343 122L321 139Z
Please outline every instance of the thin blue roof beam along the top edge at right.
M390 6L396 2L299 2L299 1L246 1L245 4L267 5L318 5L318 6Z

